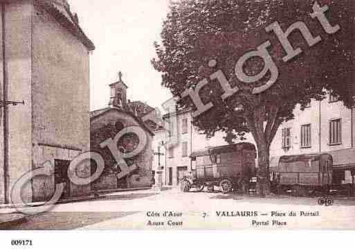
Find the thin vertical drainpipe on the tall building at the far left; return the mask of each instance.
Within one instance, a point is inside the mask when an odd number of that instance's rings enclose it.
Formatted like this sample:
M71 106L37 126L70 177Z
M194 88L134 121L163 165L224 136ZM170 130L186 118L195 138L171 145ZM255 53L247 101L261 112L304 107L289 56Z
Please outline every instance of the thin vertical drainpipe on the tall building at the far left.
M3 57L3 101L8 100L7 94L7 70L6 70L6 35L5 35L5 3L1 4L1 32L2 32L2 57ZM5 203L8 201L8 107L3 106L3 183L4 183L4 195Z

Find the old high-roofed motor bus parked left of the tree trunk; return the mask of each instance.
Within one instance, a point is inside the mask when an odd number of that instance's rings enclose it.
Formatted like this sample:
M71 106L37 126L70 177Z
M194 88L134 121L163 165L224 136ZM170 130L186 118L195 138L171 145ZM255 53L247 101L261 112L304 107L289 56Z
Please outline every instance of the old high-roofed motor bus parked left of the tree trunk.
M224 194L244 190L255 173L255 146L249 143L218 146L191 155L192 172L181 181L181 191L219 188Z

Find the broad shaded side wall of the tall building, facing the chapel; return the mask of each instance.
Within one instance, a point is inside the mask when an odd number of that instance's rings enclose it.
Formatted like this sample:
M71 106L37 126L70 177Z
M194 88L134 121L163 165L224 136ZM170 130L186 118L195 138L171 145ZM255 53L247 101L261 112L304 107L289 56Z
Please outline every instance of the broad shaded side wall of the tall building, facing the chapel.
M33 152L37 167L46 160L54 164L54 160L73 160L79 151L89 151L89 51L44 10L35 7L32 19ZM88 176L89 165L80 166L83 176ZM35 200L48 198L54 189L54 175L33 181ZM90 185L71 184L70 189L71 196L91 191Z

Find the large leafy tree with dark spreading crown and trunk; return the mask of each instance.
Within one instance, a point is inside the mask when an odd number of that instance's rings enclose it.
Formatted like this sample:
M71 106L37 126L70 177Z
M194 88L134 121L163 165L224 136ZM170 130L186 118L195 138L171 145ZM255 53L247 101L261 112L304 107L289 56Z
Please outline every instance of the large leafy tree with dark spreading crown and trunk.
M315 12L315 4L320 8L327 5L329 10ZM313 12L323 13L333 29L327 31L318 17L311 17ZM213 107L195 117L194 125L208 136L224 131L229 142L251 132L259 160L258 189L264 193L268 189L271 142L280 125L293 119L296 105L304 108L311 98L324 98L325 90L337 94L347 107L353 105L354 17L352 0L176 1L171 3L163 23L162 40L155 44L157 57L152 64L162 74L162 85L180 97L181 108L196 110L191 98L181 96L185 96L186 89L195 89L201 80L209 80L199 96L204 104L212 103ZM303 22L315 44L309 44L296 29L287 39L293 49L300 48L302 53L286 59L289 52L280 43L277 32L266 31L275 22L284 32L295 22ZM336 25L340 29L336 30ZM270 46L266 49L278 69L277 80L255 94L255 87L271 80L271 71L255 83L244 83L237 77L235 66L239 58L267 40ZM211 60L217 61L217 65ZM262 58L253 57L244 63L243 71L246 76L256 76L266 66L269 65ZM219 69L230 87L239 88L228 98L221 97L224 89L219 81L210 80Z

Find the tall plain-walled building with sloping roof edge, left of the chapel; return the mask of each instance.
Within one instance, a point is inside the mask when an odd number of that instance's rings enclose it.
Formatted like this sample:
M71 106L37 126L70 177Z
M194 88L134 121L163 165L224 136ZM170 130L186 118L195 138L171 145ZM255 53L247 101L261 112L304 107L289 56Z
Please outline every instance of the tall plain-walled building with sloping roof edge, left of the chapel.
M65 0L0 3L0 98L24 101L0 110L0 203L9 203L13 184L46 161L55 174L28 182L25 202L50 198L60 182L64 197L85 195L90 186L71 184L65 169L89 150L94 45Z

